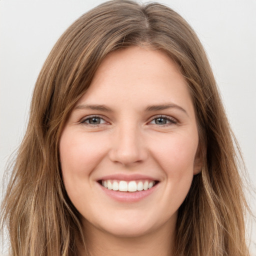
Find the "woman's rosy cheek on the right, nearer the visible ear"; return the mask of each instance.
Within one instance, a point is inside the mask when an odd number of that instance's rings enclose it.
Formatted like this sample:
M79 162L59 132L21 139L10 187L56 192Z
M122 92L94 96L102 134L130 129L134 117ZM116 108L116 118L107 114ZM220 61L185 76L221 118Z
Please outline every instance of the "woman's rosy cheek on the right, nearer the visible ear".
M195 130L196 131L196 130ZM166 214L174 214L184 201L193 179L194 157L197 150L197 132L179 132L158 136L151 154L165 178L162 197ZM168 215L169 216L169 215Z

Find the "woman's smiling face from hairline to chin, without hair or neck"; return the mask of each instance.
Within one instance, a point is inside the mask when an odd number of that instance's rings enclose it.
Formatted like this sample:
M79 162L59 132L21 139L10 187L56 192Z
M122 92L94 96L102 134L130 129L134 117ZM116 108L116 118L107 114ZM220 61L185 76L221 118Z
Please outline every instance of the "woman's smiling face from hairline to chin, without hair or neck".
M115 51L62 131L64 186L87 230L128 237L174 228L200 171L197 146L192 100L174 62L135 46Z

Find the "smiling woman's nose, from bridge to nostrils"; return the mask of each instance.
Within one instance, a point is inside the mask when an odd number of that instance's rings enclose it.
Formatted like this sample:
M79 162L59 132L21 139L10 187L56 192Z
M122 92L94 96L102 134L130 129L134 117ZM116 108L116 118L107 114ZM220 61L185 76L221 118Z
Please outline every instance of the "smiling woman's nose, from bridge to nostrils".
M131 125L124 126L118 128L113 135L109 151L110 160L126 166L144 161L148 153L140 130Z

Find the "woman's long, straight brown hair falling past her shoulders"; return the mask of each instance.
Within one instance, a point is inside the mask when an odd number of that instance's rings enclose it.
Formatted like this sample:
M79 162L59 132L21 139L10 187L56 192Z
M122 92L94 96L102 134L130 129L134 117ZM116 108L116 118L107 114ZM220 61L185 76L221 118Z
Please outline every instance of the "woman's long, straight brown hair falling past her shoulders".
M11 255L71 256L77 254L77 239L86 246L61 178L59 137L102 59L131 45L161 50L174 60L194 103L203 167L179 208L174 254L248 255L239 153L203 47L172 9L129 0L105 2L78 18L39 73L2 204Z

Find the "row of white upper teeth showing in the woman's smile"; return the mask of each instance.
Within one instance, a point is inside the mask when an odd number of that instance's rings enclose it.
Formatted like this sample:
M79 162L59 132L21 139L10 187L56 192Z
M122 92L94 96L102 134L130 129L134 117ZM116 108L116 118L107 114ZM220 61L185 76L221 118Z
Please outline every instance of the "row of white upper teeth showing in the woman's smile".
M135 191L141 191L141 190L147 190L151 188L155 181L148 181L148 180L139 180L136 182L135 180L131 181L125 181L125 180L102 180L101 181L102 186L104 186L107 189L114 190L114 191L129 191L129 192L135 192Z

